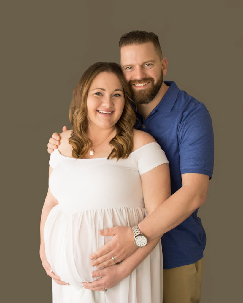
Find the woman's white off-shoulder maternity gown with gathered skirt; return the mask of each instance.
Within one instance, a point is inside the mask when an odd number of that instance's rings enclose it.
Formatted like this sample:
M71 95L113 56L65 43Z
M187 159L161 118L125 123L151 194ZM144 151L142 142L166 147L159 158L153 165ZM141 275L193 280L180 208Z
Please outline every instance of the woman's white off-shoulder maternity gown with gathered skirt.
M161 243L130 276L108 291L91 291L82 282L94 281L89 256L111 237L98 230L134 226L146 215L140 175L168 163L152 142L127 159L65 157L56 149L49 187L59 204L50 211L44 242L53 272L70 285L53 281L53 303L161 303L163 261ZM140 248L139 248L140 249ZM141 248L142 249L142 248Z

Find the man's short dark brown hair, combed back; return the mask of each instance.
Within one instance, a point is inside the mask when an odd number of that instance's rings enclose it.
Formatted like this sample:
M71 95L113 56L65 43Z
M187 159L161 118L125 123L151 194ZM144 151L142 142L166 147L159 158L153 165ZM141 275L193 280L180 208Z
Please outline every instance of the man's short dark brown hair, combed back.
M144 43L152 42L154 45L155 51L162 58L162 50L159 44L158 36L153 32L145 31L132 31L121 36L119 41L119 47L127 45L140 45Z

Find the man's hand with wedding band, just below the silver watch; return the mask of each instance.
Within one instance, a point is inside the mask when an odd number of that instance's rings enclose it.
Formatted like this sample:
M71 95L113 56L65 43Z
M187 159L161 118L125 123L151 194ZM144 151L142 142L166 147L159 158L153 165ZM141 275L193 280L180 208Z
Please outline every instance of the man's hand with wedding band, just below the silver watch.
M119 263L132 255L138 248L134 245L134 235L131 227L116 226L99 231L102 236L111 236L111 240L94 252L90 259L92 266L97 269ZM112 259L112 258L115 258Z

